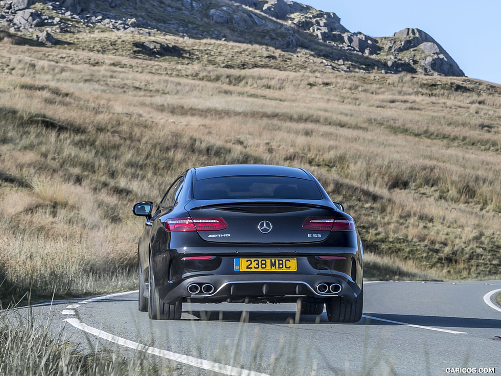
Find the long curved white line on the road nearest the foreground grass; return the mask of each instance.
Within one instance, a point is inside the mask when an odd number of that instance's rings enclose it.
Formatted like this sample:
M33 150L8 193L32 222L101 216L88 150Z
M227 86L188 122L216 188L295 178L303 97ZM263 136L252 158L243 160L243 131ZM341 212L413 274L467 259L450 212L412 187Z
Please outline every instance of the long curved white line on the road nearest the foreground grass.
M109 297L109 296L111 296L111 295L107 295L106 297ZM104 299L104 297L102 297L102 298ZM99 299L96 299L96 300L99 300ZM160 348L146 346L144 344L130 341L128 339L118 337L116 335L107 333L105 331L93 328L92 326L84 324L82 321L80 321L77 318L67 318L66 321L80 330L83 330L83 331L90 333L90 334L94 334L100 338L106 339L107 341L117 343L117 344L122 345L122 346L130 347L130 348L133 348L135 350L145 351L145 352L148 352L150 354L161 356L161 357L164 357L167 359L172 359L172 360L178 361L180 363L193 365L193 366L198 367L198 368L208 369L208 370L216 371L216 372L231 375L231 376L270 376L266 373L254 372L254 371L249 371L247 369L231 367L229 365L215 363L215 362L212 362L209 360L199 359L199 358L196 358L193 356L177 354L175 352L162 350Z

